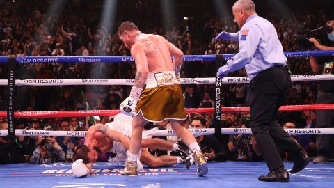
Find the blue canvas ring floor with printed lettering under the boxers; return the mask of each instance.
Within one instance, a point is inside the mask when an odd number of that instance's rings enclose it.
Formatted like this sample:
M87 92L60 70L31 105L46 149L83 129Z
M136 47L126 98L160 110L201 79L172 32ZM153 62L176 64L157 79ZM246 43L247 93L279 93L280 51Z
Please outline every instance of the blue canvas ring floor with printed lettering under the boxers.
M303 171L290 175L286 184L257 181L267 174L264 162L209 163L209 173L199 178L196 166L186 169L174 165L158 169L145 168L136 177L120 175L124 164L96 162L93 173L75 178L70 163L8 164L0 166L1 187L333 187L334 164L309 164ZM292 163L285 162L286 168Z

